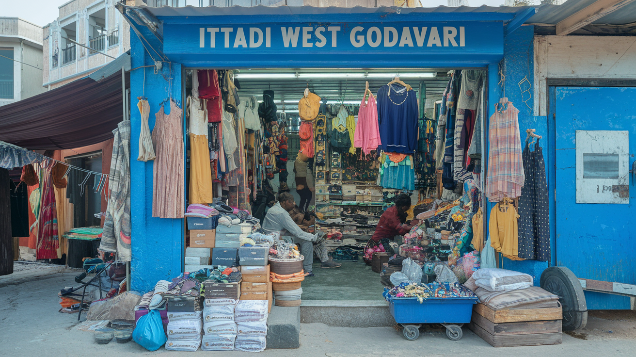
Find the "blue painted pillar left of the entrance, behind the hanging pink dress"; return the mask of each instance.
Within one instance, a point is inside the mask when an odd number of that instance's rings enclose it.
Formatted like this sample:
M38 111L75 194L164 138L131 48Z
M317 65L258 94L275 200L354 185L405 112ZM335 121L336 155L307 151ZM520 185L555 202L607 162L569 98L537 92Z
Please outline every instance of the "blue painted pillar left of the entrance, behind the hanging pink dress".
M153 64L134 31L130 31L130 54L133 69ZM160 110L160 102L170 96L181 99L181 65L170 66L164 62L158 74L155 74L152 67L135 69L130 73L130 286L132 290L145 293L153 290L158 280L170 280L181 274L184 220L152 216L154 162L137 161L141 133L141 113L137 109L137 97L142 95L148 98L150 104L148 122L152 131L155 127L155 113ZM169 111L169 104L165 108ZM185 160L184 157L174 159Z

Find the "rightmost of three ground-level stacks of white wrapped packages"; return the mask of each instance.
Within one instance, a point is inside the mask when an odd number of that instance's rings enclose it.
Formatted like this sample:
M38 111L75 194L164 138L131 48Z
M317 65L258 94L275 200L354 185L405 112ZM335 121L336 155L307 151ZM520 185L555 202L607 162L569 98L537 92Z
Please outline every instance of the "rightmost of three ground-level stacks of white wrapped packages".
M237 323L237 351L262 352L267 337L267 300L240 300L234 309Z

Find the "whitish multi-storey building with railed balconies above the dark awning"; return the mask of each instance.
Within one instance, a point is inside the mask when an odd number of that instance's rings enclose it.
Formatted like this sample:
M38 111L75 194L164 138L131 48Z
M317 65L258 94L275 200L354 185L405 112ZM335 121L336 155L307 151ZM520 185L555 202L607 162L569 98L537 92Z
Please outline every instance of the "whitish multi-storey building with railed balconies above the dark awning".
M82 78L130 49L130 27L116 2L71 0L59 7L57 20L43 29L44 87Z

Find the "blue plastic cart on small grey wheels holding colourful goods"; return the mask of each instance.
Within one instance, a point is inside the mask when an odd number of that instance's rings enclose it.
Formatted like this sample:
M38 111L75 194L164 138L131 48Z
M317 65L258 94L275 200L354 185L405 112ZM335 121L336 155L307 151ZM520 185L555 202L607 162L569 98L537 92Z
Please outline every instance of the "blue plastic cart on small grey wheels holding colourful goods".
M404 338L417 340L420 326L425 323L439 323L446 328L448 339L462 338L462 325L471 322L476 297L427 298L420 304L417 298L389 297L389 311L404 327Z

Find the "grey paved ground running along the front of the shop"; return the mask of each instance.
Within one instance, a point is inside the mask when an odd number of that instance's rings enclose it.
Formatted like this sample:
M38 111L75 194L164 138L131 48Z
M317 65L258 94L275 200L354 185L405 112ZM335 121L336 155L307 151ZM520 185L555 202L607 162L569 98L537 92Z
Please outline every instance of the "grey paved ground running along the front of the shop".
M91 332L77 329L76 315L58 312L57 292L73 286L78 272L22 277L22 283L0 287L1 356L188 356L191 353L160 349L149 352L134 342L97 345ZM8 277L0 277L6 281ZM338 328L322 324L301 326L301 348L267 350L263 356L634 356L636 351L636 313L633 311L595 312L588 327L576 337L563 335L556 346L494 348L464 330L457 342L446 339L441 330L428 329L416 341L404 340L397 330L386 328ZM197 355L254 356L250 353L211 353Z

